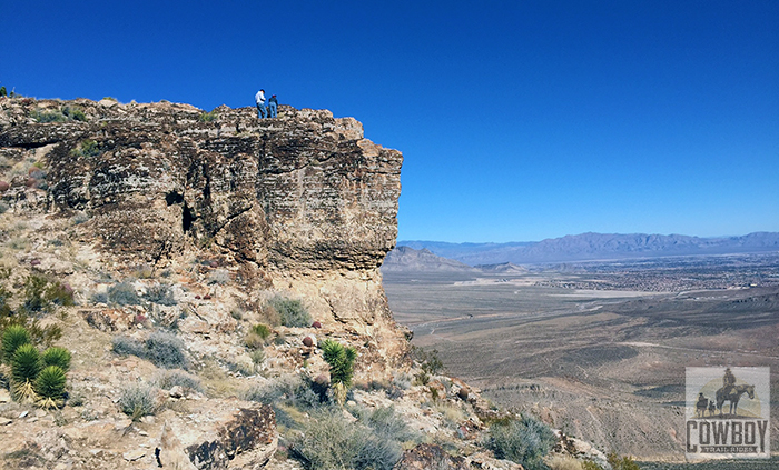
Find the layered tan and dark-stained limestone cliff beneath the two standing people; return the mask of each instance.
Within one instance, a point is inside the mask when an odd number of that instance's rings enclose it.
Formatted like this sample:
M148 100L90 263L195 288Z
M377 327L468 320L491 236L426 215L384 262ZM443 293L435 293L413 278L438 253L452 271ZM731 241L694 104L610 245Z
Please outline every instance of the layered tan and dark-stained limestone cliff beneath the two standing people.
M13 177L6 203L86 212L83 237L118 266L160 267L206 247L247 288L293 291L317 319L394 329L378 267L395 244L403 158L352 118L3 99L0 156L37 158L45 173Z

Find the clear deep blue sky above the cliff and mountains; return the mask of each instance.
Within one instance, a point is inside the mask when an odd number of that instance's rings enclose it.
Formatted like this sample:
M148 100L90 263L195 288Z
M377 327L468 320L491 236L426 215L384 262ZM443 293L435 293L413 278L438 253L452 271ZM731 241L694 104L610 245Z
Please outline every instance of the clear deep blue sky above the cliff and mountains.
M0 84L352 116L400 239L779 231L779 1L36 1Z

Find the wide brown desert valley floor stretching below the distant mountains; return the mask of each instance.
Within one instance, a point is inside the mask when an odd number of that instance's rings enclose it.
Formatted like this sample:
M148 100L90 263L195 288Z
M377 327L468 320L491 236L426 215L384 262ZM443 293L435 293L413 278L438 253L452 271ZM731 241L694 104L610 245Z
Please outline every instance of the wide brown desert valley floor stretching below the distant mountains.
M396 320L448 373L642 460L683 456L686 367L779 383L777 252L472 268L401 248L383 270Z

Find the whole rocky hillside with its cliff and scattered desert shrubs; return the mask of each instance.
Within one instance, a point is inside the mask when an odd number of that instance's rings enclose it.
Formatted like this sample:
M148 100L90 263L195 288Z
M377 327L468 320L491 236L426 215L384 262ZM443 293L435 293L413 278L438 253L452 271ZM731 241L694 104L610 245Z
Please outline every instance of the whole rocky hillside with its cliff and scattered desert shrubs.
M0 98L0 329L72 354L49 404L3 358L0 467L521 469L389 311L401 166L328 111Z

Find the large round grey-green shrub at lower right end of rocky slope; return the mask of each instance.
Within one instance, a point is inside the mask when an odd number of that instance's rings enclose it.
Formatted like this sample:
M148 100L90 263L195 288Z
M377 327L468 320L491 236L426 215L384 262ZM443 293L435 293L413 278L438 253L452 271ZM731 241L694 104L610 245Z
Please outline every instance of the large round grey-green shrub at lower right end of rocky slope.
M554 432L546 424L523 414L521 420L493 423L484 446L499 459L511 460L529 470L542 470L546 469L542 459L555 441Z

